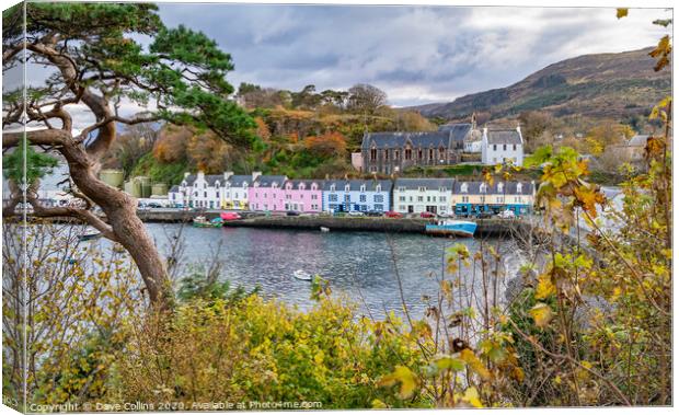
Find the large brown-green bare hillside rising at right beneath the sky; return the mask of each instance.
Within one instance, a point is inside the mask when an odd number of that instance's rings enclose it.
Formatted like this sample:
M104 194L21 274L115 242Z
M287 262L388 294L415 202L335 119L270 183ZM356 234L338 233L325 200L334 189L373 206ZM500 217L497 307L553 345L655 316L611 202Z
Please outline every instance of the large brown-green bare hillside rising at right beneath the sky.
M474 111L500 118L532 109L557 117L624 119L647 112L671 93L671 70L655 72L651 50L584 55L550 65L507 88L410 109L447 119L467 117Z

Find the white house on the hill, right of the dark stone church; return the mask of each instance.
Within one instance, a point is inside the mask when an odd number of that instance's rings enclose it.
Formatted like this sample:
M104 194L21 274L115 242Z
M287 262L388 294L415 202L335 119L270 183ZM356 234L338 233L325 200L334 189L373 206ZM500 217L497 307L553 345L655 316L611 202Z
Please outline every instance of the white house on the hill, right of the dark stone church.
M523 164L523 137L521 128L483 129L481 139L481 162L483 164Z

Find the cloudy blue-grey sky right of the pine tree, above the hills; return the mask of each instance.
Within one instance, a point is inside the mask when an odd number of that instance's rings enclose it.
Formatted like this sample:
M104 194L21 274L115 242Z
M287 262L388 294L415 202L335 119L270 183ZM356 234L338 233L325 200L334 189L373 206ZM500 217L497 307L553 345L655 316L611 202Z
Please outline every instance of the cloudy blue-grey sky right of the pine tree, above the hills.
M230 81L301 90L371 83L396 106L502 88L555 61L657 43L669 18L602 8L160 5L169 26L200 30L229 51Z

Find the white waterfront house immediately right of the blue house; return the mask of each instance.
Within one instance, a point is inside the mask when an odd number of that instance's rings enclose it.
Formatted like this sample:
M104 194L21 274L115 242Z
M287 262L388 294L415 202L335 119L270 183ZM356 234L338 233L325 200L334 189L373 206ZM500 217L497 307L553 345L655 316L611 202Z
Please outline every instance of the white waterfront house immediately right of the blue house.
M394 210L400 214L450 212L453 185L453 178L396 178Z

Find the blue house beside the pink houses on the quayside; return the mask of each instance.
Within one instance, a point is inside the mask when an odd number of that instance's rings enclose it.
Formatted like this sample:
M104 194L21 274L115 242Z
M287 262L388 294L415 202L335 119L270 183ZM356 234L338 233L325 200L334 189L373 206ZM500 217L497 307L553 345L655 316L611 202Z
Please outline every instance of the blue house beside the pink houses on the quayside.
M326 180L323 182L323 211L380 211L391 206L392 183L388 180Z

